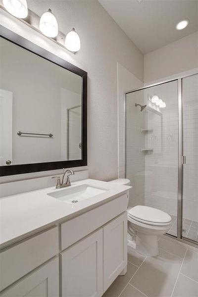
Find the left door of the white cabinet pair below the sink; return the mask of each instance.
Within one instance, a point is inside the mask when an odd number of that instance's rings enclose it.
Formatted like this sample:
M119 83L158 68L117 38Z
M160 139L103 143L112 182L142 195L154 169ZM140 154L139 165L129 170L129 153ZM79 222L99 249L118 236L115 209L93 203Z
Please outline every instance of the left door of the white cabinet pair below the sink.
M102 229L61 253L62 297L103 294Z

